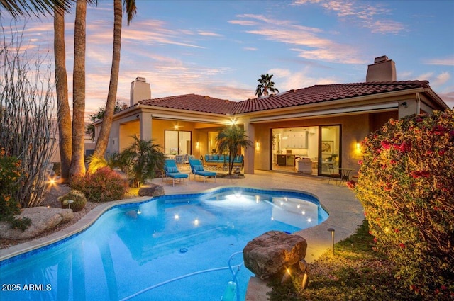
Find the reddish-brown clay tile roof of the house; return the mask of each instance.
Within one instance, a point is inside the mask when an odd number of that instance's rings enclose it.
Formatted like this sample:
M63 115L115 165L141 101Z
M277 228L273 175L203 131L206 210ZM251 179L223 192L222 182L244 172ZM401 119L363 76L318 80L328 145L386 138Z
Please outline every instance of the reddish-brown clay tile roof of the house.
M154 98L139 101L139 103L162 108L226 115L258 112L275 108L288 108L309 103L336 101L358 96L428 87L428 81L382 81L354 84L326 84L290 90L272 96L253 98L238 102L196 94L185 94Z

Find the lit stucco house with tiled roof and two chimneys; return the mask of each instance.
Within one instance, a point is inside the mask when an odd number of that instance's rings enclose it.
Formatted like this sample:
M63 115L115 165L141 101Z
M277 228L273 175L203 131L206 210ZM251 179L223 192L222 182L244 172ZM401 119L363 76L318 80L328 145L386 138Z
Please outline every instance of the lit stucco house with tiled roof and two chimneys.
M389 118L448 108L428 81L397 81L386 56L368 66L361 83L315 85L239 102L150 95L145 79L133 81L131 106L114 115L108 152L121 152L138 135L153 139L166 154L201 157L216 152L219 127L236 124L254 145L243 149L245 174L297 172L298 157L310 160L311 174L328 175L329 164L358 169L359 142Z

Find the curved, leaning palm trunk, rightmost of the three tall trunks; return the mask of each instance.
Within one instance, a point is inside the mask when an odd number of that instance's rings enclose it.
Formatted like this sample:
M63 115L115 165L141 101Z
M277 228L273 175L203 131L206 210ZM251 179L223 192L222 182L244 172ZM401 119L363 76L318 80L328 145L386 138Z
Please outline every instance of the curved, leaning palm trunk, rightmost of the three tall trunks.
M109 134L111 132L112 119L116 104L116 92L118 87L118 74L120 72L120 50L121 50L121 18L123 10L121 0L114 0L114 52L112 55L111 80L109 83L109 94L107 95L106 110L102 119L101 131L96 140L93 157L104 157Z

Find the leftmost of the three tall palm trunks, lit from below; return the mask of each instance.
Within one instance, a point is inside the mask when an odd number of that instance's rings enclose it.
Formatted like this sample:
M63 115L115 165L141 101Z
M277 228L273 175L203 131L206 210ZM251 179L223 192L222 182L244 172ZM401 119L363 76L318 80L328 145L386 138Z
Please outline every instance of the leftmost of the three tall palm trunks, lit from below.
M68 103L68 81L65 57L65 12L54 11L55 89L61 162L61 181L67 183L72 156L71 113Z

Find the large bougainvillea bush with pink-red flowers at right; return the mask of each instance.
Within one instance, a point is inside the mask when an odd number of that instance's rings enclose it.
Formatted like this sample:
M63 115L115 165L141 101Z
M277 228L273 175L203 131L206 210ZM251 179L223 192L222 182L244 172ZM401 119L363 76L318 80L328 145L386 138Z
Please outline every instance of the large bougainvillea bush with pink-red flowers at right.
M454 114L389 120L362 142L358 183L377 251L414 293L454 299Z

